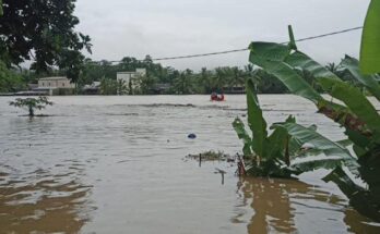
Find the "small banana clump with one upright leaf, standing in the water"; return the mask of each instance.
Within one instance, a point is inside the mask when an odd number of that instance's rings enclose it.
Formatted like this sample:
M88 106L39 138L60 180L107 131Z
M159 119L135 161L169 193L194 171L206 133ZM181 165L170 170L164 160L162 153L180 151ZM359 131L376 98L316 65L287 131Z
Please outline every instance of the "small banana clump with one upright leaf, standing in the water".
M247 81L248 125L237 118L233 126L244 141L244 159L247 173L254 176L292 177L302 172L320 168L333 169L340 165L357 168L355 158L342 143L334 143L316 132L316 126L302 127L295 118L284 123L273 124L269 134L268 124L262 115L253 79ZM305 148L309 143L312 147ZM324 157L319 157L324 155Z

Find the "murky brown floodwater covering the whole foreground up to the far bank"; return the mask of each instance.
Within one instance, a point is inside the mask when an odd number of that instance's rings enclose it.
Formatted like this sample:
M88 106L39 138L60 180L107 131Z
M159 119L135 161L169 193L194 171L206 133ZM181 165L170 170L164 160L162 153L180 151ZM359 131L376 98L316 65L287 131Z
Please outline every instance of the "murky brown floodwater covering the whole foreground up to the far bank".
M231 163L186 158L241 151L231 122L245 96L52 97L50 116L33 120L11 99L0 98L0 233L380 233L320 180L328 171L238 178ZM343 137L308 101L260 101L271 123L294 114Z

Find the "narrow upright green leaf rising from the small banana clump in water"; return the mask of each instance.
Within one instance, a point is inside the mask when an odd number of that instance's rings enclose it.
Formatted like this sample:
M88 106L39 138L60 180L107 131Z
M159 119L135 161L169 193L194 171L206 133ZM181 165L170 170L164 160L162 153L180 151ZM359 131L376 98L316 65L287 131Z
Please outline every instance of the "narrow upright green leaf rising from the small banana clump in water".
M252 150L256 155L264 157L265 141L268 138L266 122L262 115L258 96L254 93L253 79L247 81L248 125L252 131Z

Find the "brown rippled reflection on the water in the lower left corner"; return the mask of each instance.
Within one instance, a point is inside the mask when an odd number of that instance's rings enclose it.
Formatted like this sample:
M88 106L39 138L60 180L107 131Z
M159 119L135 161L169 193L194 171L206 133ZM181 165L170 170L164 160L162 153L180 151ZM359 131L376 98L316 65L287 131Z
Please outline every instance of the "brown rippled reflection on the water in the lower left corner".
M1 173L0 233L78 233L94 208L88 200L91 187L73 178L75 170L70 168L66 171L73 172L66 174L40 169Z

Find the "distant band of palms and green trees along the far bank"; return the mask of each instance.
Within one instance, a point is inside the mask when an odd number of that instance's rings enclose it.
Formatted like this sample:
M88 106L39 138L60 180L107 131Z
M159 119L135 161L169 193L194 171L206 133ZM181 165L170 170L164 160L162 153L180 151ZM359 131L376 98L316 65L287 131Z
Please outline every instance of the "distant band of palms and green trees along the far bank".
M284 94L285 86L273 75L263 70L254 70L252 65L242 69L237 66L223 66L214 70L203 67L195 72L192 70L178 71L170 66L164 67L159 63L154 63L147 56L145 60L136 60L126 57L120 63L112 64L107 61L93 62L86 60L83 73L78 81L78 85L83 87L93 82L106 81L109 84L116 83L118 72L133 72L136 69L146 69L147 75L134 81L139 84L138 90L127 91L128 94L150 95L157 93L157 86L166 85L168 88L161 94L170 95L191 95L211 94L212 91L244 91L247 78L254 79L254 86L260 94ZM109 79L109 81L108 81ZM127 84L128 86L128 84ZM114 88L112 94L117 91ZM235 90L236 91L236 90Z

